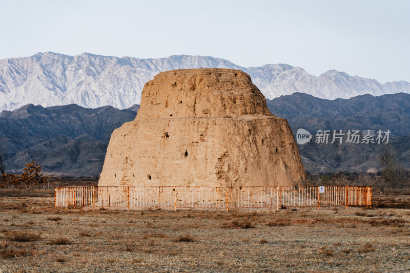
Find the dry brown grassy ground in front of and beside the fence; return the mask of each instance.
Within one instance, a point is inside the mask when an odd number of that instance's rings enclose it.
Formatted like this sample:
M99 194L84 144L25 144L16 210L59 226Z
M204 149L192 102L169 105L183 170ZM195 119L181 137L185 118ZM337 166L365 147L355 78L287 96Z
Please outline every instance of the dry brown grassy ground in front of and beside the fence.
M409 271L410 196L373 200L372 209L127 212L3 196L0 272Z

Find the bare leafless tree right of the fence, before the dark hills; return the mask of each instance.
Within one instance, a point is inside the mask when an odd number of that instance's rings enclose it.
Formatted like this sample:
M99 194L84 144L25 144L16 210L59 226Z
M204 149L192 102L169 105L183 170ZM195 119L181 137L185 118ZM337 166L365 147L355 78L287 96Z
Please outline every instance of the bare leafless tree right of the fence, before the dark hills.
M378 149L382 178L388 186L403 187L406 180L406 170L397 159L392 145L383 144Z

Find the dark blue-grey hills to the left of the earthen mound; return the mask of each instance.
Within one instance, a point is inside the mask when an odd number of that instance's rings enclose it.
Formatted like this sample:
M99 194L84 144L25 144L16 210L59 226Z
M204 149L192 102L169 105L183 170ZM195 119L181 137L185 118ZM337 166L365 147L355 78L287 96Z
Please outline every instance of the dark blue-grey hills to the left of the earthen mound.
M48 108L28 104L3 111L0 147L5 147L7 171L21 170L35 160L46 172L99 174L112 131L135 116L133 110L76 104Z

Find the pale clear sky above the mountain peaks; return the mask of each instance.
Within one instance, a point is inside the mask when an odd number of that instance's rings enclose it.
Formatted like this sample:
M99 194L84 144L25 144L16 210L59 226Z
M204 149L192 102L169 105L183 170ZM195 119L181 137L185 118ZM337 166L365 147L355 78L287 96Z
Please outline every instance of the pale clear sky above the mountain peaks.
M409 11L410 1L0 0L0 59L187 54L410 82Z

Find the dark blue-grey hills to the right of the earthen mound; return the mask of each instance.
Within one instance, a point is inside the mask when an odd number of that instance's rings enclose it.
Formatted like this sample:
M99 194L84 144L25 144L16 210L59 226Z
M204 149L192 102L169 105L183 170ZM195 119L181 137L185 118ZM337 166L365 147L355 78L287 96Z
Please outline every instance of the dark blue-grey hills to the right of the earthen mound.
M399 161L410 169L410 95L327 100L303 93L267 100L269 110L288 119L294 135L299 128L317 130L390 130L390 143ZM298 145L306 170L317 172L367 171L379 168L379 144L337 142L316 144L315 138Z

